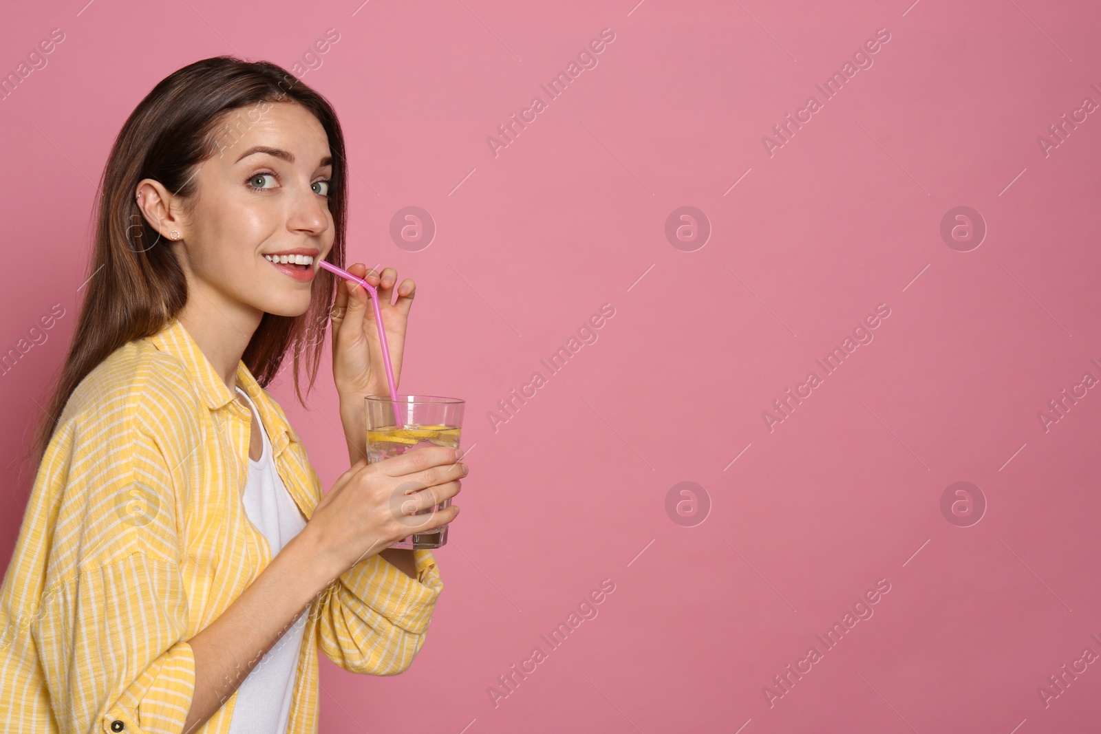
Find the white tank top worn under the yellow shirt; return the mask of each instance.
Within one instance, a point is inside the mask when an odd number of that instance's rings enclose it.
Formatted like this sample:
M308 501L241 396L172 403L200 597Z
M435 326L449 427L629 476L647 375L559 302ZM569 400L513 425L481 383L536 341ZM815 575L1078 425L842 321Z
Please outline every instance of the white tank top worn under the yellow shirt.
M298 506L287 492L272 458L272 443L260 420L255 404L240 387L252 407L252 419L260 425L263 453L258 461L249 458L249 478L244 487L244 511L271 546L272 557L306 526ZM306 614L302 614L237 689L237 703L230 734L285 734L291 712L291 695L302 647Z

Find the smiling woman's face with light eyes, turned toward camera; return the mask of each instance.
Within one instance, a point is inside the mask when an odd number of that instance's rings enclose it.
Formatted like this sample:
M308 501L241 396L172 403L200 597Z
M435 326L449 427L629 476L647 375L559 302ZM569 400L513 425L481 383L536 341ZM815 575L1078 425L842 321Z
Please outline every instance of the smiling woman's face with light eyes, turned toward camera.
M172 247L189 285L215 305L222 302L220 308L301 316L335 234L325 129L294 102L235 110L226 124L232 132L220 135L220 152L199 164L194 209L182 219L183 240ZM306 258L269 260L279 255Z

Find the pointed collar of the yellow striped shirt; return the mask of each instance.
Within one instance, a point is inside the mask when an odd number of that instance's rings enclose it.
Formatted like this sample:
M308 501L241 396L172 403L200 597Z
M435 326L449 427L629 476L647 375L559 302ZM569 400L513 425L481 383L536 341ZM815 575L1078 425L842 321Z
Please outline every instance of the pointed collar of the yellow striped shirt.
M157 333L150 337L154 347L163 352L168 352L184 363L190 374L199 396L211 410L219 410L237 399L237 394L226 386L221 375L210 364L203 350L195 342L192 336L184 328L177 318L172 318ZM260 383L252 376L244 360L237 363L237 384L243 390L260 412L260 419L268 429L269 438L272 442L274 454L286 448L292 440L297 440L291 426L284 420L281 412L275 407L274 402L264 393ZM240 405L238 403L238 405ZM242 410L247 410L241 406Z

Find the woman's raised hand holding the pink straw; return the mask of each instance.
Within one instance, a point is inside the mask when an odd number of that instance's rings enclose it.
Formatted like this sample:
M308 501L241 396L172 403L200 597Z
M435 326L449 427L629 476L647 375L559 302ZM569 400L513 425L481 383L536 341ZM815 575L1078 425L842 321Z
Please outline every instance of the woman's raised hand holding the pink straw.
M379 293L379 308L382 310L382 324L386 332L386 346L390 349L391 368L394 371L396 386L402 371L402 352L405 349L405 327L416 284L411 278L402 281L396 288L397 302L391 304L394 284L397 282L396 270L384 269L381 280L380 274L373 269L369 274L363 263L356 263L346 270L370 283ZM339 317L330 317L333 379L341 403L358 404L362 409L362 399L367 395L390 394L385 362L382 358L382 343L379 341L379 329L374 324L374 306L363 286L339 276L335 277L339 281L335 308L344 310L337 311L340 314Z

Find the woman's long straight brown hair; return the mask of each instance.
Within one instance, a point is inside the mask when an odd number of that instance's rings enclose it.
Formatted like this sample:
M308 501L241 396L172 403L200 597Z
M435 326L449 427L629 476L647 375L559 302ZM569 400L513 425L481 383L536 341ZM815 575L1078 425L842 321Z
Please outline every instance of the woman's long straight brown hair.
M187 210L197 193L198 165L220 154L242 124L254 123L258 111L275 102L303 105L328 135L333 155L328 206L336 237L326 260L344 266L348 178L344 133L329 102L275 64L233 56L204 58L165 77L127 119L103 168L89 280L64 366L31 445L30 465L42 460L80 381L116 349L160 331L187 303L184 271L138 208L138 182L160 182L184 199ZM318 272L305 314L264 314L241 358L261 386L275 377L291 351L295 394L305 407L299 359L308 368L308 394L320 364L334 295L333 275Z

